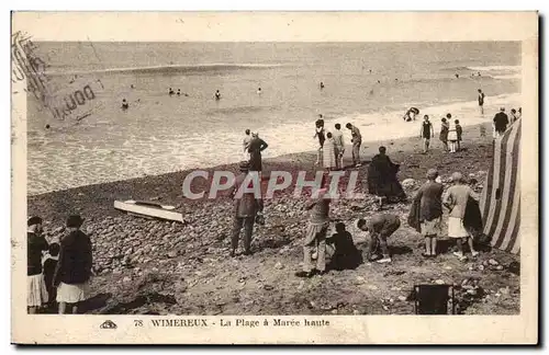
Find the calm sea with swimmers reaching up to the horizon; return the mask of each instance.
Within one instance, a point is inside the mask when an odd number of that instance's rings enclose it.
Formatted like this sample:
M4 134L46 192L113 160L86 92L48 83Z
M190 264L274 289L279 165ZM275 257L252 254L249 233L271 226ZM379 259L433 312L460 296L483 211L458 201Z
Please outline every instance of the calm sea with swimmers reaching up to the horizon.
M436 131L447 113L468 126L520 106L519 42L35 45L60 104L83 103L59 118L26 95L30 195L237 162L245 129L265 158L312 151L320 114L386 142L418 134L412 106Z

